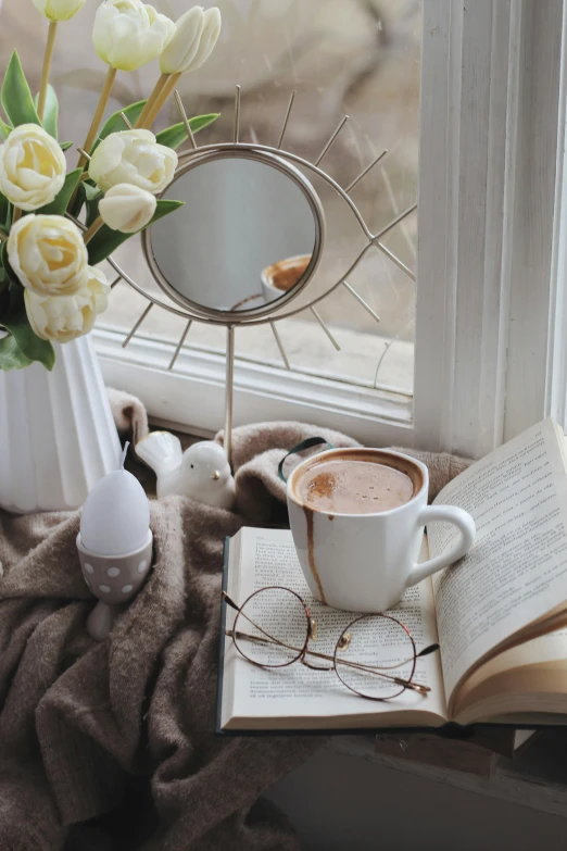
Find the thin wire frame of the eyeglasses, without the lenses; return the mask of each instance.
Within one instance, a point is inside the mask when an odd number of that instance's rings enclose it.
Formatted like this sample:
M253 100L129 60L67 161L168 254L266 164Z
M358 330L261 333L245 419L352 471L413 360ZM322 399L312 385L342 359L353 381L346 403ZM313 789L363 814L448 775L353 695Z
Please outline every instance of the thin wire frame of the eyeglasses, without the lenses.
M244 606L248 605L248 603L252 600L252 598L256 597L257 595L262 593L263 591L270 591L270 590L280 590L280 591L287 591L289 593L292 593L293 597L295 597L299 600L299 602L301 603L301 605L303 606L303 609L305 611L305 616L306 616L306 629L305 629L305 641L304 641L304 644L303 644L303 647L301 649L291 647L290 644L286 644L284 641L280 641L279 639L274 638L274 636L270 636L268 633L266 633L265 629L263 629L261 626L255 624L250 617L248 617L248 615L245 615L242 612ZM281 586L281 585L268 585L268 586L265 586L264 588L259 588L257 590L253 591L244 600L244 602L241 605L238 605L230 598L230 596L226 591L222 592L222 597L223 597L223 600L227 603L227 605L229 605L231 609L234 609L237 612L237 615L235 617L235 623L232 625L232 629L226 629L225 628L225 637L231 638L232 639L232 643L234 643L237 652L242 656L242 659L244 659L250 664L255 665L256 667L269 671L269 669L282 668L282 667L289 667L290 665L295 664L295 662L300 662L302 665L304 665L305 667L310 668L311 671L327 671L327 672L328 671L333 671L335 674L337 675L337 677L339 678L339 680L343 684L343 686L345 686L354 694L356 694L360 698L364 698L365 700L378 701L380 703L383 703L386 701L393 700L394 698L400 697L400 694L403 694L403 692L406 689L408 689L411 691L416 691L417 693L419 693L421 696L427 696L427 693L431 691L429 686L423 686L419 683L413 683L412 679L413 679L413 677L415 675L415 669L416 669L416 666L417 666L417 660L421 659L421 658L424 658L426 655L429 655L429 653L433 653L437 650L439 650L439 644L438 643L429 644L426 648L424 648L424 650L417 652L417 647L416 647L414 637L412 636L410 629L405 626L405 624L403 624L401 621L399 621L396 617L393 617L392 615L385 614L383 612L376 612L376 613L371 613L371 614L370 613L362 614L362 615L358 615L357 617L355 617L353 621L351 621L344 627L344 629L340 634L340 636L339 636L339 638L337 640L337 643L335 646L335 652L333 652L333 654L331 656L331 655L329 655L327 653L318 653L315 650L310 650L310 648L308 648L310 641L311 640L315 641L316 638L317 638L317 624L316 624L315 620L311 616L311 612L310 612L310 609L308 609L306 602L292 588L288 588L288 587ZM256 629L260 629L260 631L263 633L267 637L267 639L269 639L269 643L279 644L280 647L285 647L288 650L293 650L294 652L298 653L298 655L294 656L294 659L290 660L289 662L284 662L284 663L278 664L278 665L264 665L261 662L256 662L255 660L250 659L250 656L248 656L239 648L238 642L237 642L237 637L241 637L241 638L243 638L245 640L250 640L250 641L255 641L257 643L268 643L268 641L263 640L260 636L251 636L251 635L247 635L245 633L239 633L238 630L235 630L235 626L236 626L236 624L238 622L239 616L242 616L245 621L248 621L250 624L252 624L252 626L254 626ZM363 665L363 664L360 664L360 663L357 664L357 663L354 663L354 662L348 662L348 661L345 661L343 659L337 660L338 652L340 650L344 650L346 647L349 647L350 638L351 638L351 636L349 635L349 630L352 629L352 627L355 624L360 623L361 621L365 621L365 620L367 620L369 617L385 617L385 618L387 618L389 621L392 621L394 624L398 624L398 626L402 627L402 629L407 635L407 638L410 639L410 642L411 642L412 649L413 649L412 673L411 673L411 675L410 675L410 677L407 679L404 679L402 677L391 676L389 674L383 673L383 671L373 669L373 667L375 667L373 665ZM319 667L317 665L310 665L310 663L305 659L305 656L307 656L307 655L312 655L312 656L315 656L317 659L324 659L324 660L326 660L328 662L332 662L332 665L331 665L331 667ZM380 676L380 677L382 677L385 679L390 679L393 683L395 683L396 685L401 686L401 689L395 694L389 694L386 698L375 697L375 696L370 696L370 694L364 694L362 691L357 691L356 689L354 689L352 686L350 686L348 683L344 681L344 679L339 674L338 666L337 666L337 661L339 661L339 664L341 664L341 665L345 665L345 666L349 666L349 667L357 667L360 669L366 671L366 673L375 674L375 675ZM410 660L407 660L407 661L410 661ZM404 664L404 663L401 663L401 664ZM399 666L399 664L395 665L395 666L392 666L392 667L398 667L398 666Z

